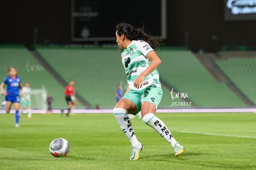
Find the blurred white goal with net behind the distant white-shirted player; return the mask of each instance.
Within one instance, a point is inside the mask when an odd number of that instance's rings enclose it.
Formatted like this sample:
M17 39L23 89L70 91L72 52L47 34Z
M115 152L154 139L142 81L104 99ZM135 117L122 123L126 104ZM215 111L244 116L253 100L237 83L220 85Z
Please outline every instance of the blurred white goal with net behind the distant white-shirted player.
M45 86L42 86L41 88L32 88L30 97L32 109L47 110L47 91Z

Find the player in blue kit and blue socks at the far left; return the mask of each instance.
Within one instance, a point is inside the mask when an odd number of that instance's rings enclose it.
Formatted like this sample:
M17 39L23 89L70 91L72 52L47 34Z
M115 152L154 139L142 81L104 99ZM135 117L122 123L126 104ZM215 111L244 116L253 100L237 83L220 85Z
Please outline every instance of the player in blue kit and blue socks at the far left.
M7 85L6 89L6 113L10 113L12 103L15 109L15 127L19 127L19 108L20 108L20 89L22 90L22 84L20 83L20 77L17 75L17 69L10 67L8 69L9 75L1 83L1 95L4 95L4 85Z

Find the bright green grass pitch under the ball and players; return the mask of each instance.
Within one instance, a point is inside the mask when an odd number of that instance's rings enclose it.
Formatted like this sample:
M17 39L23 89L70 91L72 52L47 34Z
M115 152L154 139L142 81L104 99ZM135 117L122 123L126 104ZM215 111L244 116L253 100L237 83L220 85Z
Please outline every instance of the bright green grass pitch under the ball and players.
M157 114L186 148L181 158L155 130L132 119L144 145L130 161L130 143L113 114L0 115L0 169L256 169L256 114ZM49 143L66 138L70 153L54 158Z

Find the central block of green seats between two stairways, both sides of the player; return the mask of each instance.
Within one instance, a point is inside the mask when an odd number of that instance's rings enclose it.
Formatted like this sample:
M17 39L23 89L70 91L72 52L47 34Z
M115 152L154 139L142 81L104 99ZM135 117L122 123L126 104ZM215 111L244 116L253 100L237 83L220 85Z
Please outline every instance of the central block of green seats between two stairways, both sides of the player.
M36 50L64 79L75 79L78 93L92 106L96 104L102 108L114 106L116 85L121 80L126 82L117 48L36 46ZM194 106L199 108L246 106L226 85L216 82L190 51L162 48L157 53L163 61L159 68L161 78L180 93L187 93ZM181 98L173 100L169 88L163 87L163 91L160 108L169 108L173 102L184 101Z

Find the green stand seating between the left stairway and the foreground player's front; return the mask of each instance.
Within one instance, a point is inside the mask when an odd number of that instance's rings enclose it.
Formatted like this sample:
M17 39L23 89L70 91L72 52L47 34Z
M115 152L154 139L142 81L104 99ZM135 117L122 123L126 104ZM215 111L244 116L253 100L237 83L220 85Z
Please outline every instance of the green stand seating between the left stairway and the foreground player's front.
M36 46L36 51L95 108L114 108L115 91L126 75L117 48Z

